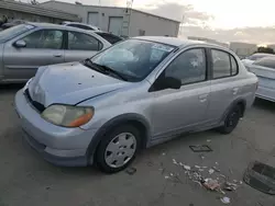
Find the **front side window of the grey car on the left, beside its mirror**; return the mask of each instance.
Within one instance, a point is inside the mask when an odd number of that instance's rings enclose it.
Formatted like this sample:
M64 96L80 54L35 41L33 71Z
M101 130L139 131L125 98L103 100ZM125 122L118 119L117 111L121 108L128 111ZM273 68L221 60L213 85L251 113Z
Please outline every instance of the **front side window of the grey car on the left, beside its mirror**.
M57 30L40 30L24 38L25 48L62 49L63 32Z

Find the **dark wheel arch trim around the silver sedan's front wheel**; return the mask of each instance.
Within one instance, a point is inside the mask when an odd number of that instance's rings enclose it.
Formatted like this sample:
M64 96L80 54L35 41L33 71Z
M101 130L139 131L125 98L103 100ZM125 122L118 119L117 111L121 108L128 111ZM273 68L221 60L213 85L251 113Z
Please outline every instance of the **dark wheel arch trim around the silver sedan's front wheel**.
M148 142L150 137L151 137L150 123L147 122L147 119L144 118L142 115L135 114L135 113L122 114L122 115L119 115L119 116L108 121L102 127L99 128L99 130L92 137L92 139L89 144L89 147L87 149L87 152L86 152L87 158L90 158L90 159L88 159L88 163L90 163L90 164L92 163L94 154L96 152L96 149L97 149L102 136L106 133L108 133L111 128L113 128L120 124L124 124L127 122L130 122L130 121L136 122L145 128L145 131L143 133L145 136L143 137L144 139L142 140L142 142L143 142L142 148L145 148L147 146L147 142Z

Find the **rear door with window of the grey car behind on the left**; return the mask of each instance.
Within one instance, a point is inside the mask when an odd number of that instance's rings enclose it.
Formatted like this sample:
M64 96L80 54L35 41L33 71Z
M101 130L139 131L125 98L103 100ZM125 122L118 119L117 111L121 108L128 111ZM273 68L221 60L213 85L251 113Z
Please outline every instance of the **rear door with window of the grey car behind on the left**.
M65 61L79 61L90 58L105 47L105 44L92 35L68 31L65 49Z

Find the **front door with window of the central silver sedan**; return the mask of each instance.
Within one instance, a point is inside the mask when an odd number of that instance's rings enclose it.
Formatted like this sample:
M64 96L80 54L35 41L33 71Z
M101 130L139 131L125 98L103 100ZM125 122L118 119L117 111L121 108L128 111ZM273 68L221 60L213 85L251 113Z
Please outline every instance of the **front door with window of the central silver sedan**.
M154 138L204 125L210 95L205 49L193 48L179 54L161 76L180 79L182 88L154 92Z

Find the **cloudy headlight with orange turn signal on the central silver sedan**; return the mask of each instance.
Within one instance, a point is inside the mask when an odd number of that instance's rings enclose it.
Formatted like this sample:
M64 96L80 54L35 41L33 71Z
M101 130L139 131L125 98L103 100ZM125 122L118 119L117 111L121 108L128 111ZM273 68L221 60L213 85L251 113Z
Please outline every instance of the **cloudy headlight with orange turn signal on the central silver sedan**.
M53 104L48 106L41 116L54 125L79 127L92 118L94 108Z

